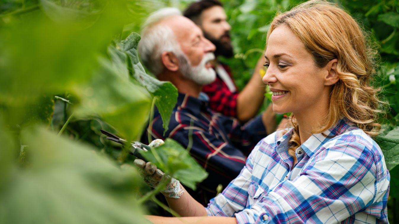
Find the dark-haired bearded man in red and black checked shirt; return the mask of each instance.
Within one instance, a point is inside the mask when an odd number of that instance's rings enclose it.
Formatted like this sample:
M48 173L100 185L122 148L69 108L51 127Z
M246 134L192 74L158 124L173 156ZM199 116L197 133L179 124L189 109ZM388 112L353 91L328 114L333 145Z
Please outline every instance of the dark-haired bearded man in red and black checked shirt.
M226 21L226 14L218 0L201 0L192 3L184 11L184 16L196 23L215 46L215 56L230 58L233 47L230 41L230 25ZM263 103L265 84L259 76L259 69L263 68L263 55L259 59L251 80L245 88L238 92L234 80L231 78L229 66L213 60L213 68L217 78L214 82L203 86L202 92L209 96L209 106L214 111L226 116L248 121L253 118Z

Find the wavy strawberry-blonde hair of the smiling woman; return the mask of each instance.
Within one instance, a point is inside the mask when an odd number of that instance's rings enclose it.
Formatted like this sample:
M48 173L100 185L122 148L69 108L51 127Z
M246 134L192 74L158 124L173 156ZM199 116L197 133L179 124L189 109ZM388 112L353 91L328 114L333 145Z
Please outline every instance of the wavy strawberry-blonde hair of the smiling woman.
M347 117L369 136L377 136L381 125L377 123L385 104L377 97L378 89L371 86L375 74L377 51L367 42L367 35L359 24L343 9L323 0L302 3L292 10L276 16L267 33L285 24L312 54L314 63L323 68L338 59L339 81L332 86L328 114L323 125L314 127L313 133L322 133ZM288 153L295 155L300 146L298 123L290 117L294 128Z

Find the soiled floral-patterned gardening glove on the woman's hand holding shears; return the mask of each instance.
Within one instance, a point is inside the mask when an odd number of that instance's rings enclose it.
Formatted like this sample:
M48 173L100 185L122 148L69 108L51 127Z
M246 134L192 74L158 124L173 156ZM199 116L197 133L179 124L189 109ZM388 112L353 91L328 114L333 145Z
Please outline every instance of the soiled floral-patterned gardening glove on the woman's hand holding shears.
M155 139L148 146L158 147L164 144L162 139ZM169 175L165 175L160 169L157 169L154 164L151 162L145 162L144 160L140 160L136 158L134 160L134 165L140 168L141 176L150 187L156 188L162 179L170 179L170 183L166 186L166 189L161 191L163 195L170 198L180 198L183 194L184 190L180 185L180 182L174 178L171 178Z

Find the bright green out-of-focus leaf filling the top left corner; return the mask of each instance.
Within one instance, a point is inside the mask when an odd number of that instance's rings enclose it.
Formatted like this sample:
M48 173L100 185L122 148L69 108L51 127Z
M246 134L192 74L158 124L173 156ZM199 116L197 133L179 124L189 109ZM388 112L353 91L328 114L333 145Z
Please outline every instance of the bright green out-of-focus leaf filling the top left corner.
M24 112L43 95L69 92L91 80L97 58L105 55L106 46L131 19L126 4L126 0L39 0L32 10L2 14L0 105L7 110L6 122L21 125Z

